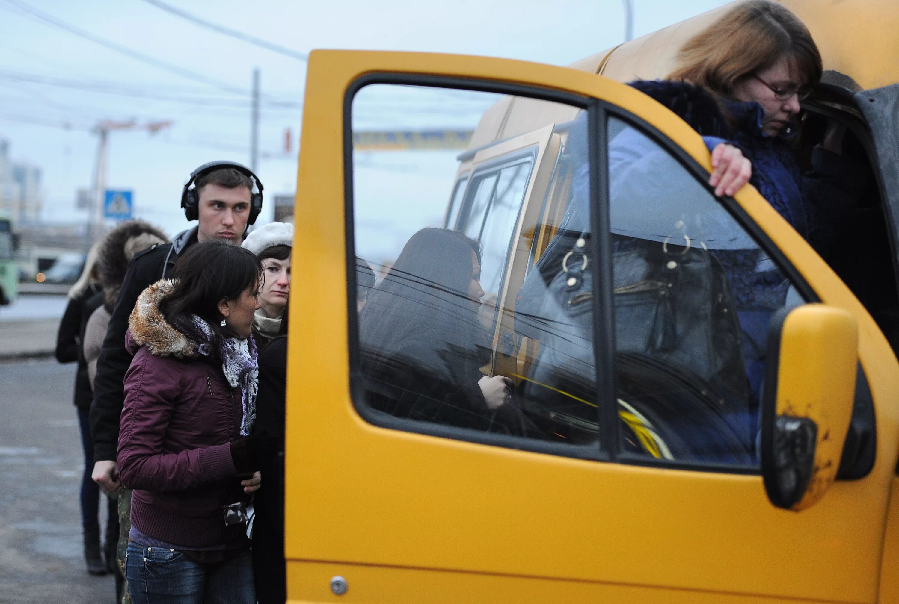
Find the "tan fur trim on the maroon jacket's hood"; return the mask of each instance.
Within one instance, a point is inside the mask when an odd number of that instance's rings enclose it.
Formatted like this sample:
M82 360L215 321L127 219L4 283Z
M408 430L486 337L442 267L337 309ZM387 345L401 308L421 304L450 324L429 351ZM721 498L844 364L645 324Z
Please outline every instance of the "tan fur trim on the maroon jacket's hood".
M156 357L187 359L197 355L197 344L169 324L159 310L159 303L173 287L173 280L164 279L141 292L128 319L130 338L126 338L126 346L131 354L146 346Z

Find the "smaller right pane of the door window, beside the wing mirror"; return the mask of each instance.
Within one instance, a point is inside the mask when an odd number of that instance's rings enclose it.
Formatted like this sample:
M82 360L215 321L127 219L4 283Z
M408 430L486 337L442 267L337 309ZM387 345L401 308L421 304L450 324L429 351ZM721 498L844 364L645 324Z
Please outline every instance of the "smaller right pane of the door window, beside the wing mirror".
M803 300L703 182L609 126L620 452L754 466L770 317Z

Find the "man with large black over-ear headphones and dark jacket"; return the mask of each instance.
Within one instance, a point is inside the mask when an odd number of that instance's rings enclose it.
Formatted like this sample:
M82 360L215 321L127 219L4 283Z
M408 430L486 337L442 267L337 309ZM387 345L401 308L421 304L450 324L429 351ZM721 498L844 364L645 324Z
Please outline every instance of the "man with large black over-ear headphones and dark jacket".
M131 355L125 350L125 332L138 296L157 280L165 279L174 262L191 244L226 239L240 245L246 228L263 209L263 183L245 165L209 162L194 170L184 183L181 207L184 216L197 220L198 225L175 235L171 244L156 244L134 256L97 361L91 405L92 477L108 492L120 486L115 459L119 418L125 402L123 382L131 364Z

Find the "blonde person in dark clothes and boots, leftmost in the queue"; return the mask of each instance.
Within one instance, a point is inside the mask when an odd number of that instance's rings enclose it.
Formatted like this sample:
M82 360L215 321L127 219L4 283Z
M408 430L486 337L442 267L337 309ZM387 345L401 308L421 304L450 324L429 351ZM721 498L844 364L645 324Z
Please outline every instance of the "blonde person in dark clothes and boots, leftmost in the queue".
M66 312L62 315L57 333L56 359L60 363L77 361L78 367L75 374L75 406L78 413L78 427L81 430L81 445L85 452L85 471L81 480L81 526L85 533L85 562L87 572L91 574L106 574L111 570L108 564L103 564L102 547L100 544L100 489L91 480L93 468L93 440L91 440L91 427L88 421L88 413L91 409L93 391L87 378L87 364L82 348L84 342L85 325L93 310L100 306L99 300L93 300L100 291L97 278L97 255L100 243L94 244L87 253L85 268L81 277L76 281L72 289L68 291L68 304ZM106 528L107 542L118 538L115 522L115 502L109 501L110 517Z

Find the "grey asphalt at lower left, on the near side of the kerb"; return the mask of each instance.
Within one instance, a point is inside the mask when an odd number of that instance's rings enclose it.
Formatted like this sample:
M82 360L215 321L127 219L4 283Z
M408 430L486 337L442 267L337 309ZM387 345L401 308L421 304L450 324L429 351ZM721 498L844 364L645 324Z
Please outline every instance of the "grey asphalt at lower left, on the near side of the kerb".
M78 488L84 466L75 364L0 362L0 601L112 604L111 576L85 572ZM101 502L105 508L105 502ZM105 526L105 519L102 520Z

